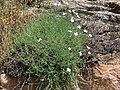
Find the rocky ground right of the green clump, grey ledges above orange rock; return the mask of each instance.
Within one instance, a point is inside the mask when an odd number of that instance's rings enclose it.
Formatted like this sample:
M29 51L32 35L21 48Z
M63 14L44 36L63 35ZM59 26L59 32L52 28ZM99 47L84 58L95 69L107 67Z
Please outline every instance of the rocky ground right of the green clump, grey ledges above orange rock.
M92 67L91 80L81 87L82 90L120 90L119 0L84 0L76 8L86 22L86 35L93 35L87 45L93 54L92 62L97 61Z

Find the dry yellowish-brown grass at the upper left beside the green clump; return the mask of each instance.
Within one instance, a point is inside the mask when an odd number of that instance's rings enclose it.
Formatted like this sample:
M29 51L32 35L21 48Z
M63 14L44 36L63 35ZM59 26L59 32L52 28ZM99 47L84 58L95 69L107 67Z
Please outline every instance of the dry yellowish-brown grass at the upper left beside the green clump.
M22 12L20 5L16 5L16 2L7 0L0 2L0 58L4 59L8 55L8 48L11 43L11 33L16 32L16 28L25 30L20 25L23 23L26 25L26 21L29 18L29 13ZM22 14L21 14L22 13Z

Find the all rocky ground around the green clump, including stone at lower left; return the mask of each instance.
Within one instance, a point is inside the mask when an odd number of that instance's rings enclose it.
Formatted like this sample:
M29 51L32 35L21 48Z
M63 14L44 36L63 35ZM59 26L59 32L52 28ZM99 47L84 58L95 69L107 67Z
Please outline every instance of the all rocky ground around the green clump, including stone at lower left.
M88 42L85 44L89 46L91 55L85 62L94 63L88 65L92 73L84 76L89 77L87 79L83 77L85 83L80 83L81 90L120 90L120 1L50 0L41 6L45 9L52 7L59 11L69 10L77 22L82 22L82 28L88 30L85 33ZM82 78L79 76L79 79ZM1 74L0 80L1 85L6 87L4 90L11 90L9 86L12 80L18 82L16 78L4 74Z

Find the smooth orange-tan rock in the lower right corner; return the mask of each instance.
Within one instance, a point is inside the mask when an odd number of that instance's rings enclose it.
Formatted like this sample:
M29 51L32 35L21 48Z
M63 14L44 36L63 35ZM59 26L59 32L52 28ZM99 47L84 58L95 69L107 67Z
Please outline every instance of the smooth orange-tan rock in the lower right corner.
M94 69L96 77L101 77L101 80L92 81L93 89L97 90L120 90L120 60L119 58L109 61L109 63L99 63L97 67L99 70ZM93 79L94 80L94 79Z

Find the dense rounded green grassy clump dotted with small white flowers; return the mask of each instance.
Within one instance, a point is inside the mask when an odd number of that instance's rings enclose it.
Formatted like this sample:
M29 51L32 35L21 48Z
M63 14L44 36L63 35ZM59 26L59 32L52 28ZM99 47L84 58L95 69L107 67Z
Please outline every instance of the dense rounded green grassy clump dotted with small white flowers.
M69 16L47 14L32 20L27 32L13 35L11 52L28 66L26 75L37 77L40 90L71 90L77 85L83 34L69 21Z

